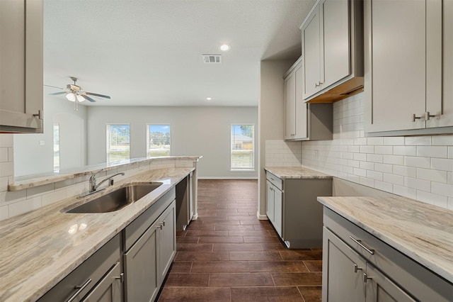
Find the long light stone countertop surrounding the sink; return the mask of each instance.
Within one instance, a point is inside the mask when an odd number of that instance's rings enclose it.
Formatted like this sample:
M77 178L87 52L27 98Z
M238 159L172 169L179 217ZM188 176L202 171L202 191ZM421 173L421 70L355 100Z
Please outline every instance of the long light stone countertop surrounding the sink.
M36 211L0 222L0 301L35 301L93 255L195 168L149 170L117 181L99 194L66 198ZM62 213L118 186L162 181L150 194L110 213ZM85 224L70 234L71 226ZM74 227L72 228L74 229Z

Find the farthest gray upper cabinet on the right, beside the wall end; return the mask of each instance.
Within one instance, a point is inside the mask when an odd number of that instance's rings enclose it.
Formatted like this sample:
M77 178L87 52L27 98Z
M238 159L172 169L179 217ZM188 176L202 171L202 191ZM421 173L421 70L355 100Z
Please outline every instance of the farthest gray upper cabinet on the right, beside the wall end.
M299 57L285 76L285 140L331 140L332 104L306 104L304 68Z

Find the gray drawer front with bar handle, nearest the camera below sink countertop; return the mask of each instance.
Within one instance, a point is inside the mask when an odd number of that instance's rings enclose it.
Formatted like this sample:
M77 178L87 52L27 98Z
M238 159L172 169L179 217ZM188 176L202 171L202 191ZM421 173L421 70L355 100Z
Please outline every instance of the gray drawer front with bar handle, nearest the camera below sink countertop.
M72 301L81 301L101 278L120 259L120 235L105 243L97 252L74 269L62 281L40 298L43 301L68 301L79 290ZM119 275L118 275L119 276Z

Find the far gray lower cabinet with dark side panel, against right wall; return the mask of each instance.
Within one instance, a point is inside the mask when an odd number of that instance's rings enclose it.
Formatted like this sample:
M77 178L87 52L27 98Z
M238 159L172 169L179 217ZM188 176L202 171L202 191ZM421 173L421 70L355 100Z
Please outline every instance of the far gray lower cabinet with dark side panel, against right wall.
M266 213L289 248L322 247L323 207L332 179L280 179L266 172Z

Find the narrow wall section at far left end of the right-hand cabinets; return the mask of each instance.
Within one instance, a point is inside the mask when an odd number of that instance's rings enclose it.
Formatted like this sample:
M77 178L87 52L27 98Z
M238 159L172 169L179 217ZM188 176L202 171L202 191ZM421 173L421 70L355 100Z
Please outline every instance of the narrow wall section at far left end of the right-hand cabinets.
M263 60L260 63L260 169L258 178L258 217L267 219L266 177L264 172L266 142L285 137L285 82L283 75L296 60Z

